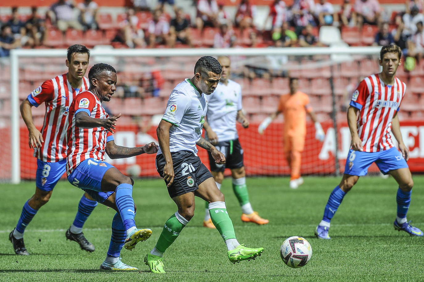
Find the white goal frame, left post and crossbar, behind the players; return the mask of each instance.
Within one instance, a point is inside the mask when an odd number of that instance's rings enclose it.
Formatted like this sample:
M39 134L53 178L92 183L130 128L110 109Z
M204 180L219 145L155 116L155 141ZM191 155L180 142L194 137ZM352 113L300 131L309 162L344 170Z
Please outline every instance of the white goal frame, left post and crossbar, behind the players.
M177 56L315 56L327 55L334 60L349 60L351 55L379 54L381 47L292 47L292 48L229 48L229 49L109 49L93 48L90 56L97 58L107 57L177 57ZM66 57L66 49L17 49L10 53L10 102L11 102L11 183L20 183L20 59L36 57ZM107 61L107 60L105 60ZM45 79L48 79L46 77ZM6 180L7 179L3 179Z

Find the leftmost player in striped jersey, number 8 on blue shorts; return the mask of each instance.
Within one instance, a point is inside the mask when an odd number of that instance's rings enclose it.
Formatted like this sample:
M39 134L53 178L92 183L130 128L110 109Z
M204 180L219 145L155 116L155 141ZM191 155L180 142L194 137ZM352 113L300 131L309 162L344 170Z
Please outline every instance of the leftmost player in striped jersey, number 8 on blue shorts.
M21 104L22 118L29 131L29 146L34 149L37 158L37 171L35 193L24 204L17 226L9 234L9 240L18 255L29 254L23 240L25 228L49 201L53 188L65 172L66 117L75 96L89 87L89 81L84 77L89 57L90 51L84 45L70 46L66 60L68 72L45 81ZM40 132L33 123L31 107L38 107L42 103L45 103L46 114ZM78 204L75 220L65 234L68 240L79 243L81 249L90 252L95 248L84 237L82 227L96 205L96 201L84 194Z

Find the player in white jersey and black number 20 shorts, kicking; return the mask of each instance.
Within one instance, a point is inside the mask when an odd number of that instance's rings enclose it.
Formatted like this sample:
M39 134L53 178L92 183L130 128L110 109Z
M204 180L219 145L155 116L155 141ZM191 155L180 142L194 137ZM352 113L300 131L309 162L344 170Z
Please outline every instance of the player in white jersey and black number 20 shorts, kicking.
M225 163L225 156L202 137L208 108L206 95L215 91L221 72L215 58L204 56L198 59L194 76L186 78L172 90L166 112L156 129L160 146L156 168L178 210L165 222L156 246L144 258L151 272L165 273L163 254L192 219L195 196L209 203L212 222L225 241L231 262L251 260L263 252L263 248L248 248L238 243L224 195L197 156L196 145L211 152L217 164Z

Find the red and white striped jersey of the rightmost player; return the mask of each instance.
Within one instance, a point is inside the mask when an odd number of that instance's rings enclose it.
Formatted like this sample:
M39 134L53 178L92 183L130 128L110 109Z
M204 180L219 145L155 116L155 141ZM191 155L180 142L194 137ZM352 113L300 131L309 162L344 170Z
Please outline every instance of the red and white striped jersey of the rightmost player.
M351 106L360 110L357 118L358 135L364 152L378 152L394 147L391 140L393 115L399 111L406 84L395 78L385 85L378 74L360 82L352 95Z

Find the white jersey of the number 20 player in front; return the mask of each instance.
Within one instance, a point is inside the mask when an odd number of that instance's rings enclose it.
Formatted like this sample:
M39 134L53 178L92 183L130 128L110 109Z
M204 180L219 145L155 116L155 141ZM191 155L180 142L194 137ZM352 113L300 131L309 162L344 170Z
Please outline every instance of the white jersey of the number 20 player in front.
M173 124L169 130L171 152L190 151L197 156L196 143L202 135L207 110L206 95L199 92L188 78L172 90L162 117ZM157 154L162 154L160 147Z

